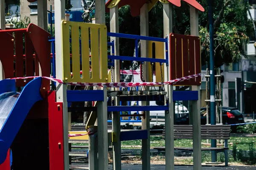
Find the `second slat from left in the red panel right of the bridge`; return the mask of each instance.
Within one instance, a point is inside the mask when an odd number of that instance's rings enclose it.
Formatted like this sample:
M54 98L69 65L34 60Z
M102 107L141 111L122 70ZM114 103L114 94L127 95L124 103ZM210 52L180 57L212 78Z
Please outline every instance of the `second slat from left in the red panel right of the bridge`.
M177 77L183 77L182 76L182 44L181 44L181 38L176 38L176 76Z

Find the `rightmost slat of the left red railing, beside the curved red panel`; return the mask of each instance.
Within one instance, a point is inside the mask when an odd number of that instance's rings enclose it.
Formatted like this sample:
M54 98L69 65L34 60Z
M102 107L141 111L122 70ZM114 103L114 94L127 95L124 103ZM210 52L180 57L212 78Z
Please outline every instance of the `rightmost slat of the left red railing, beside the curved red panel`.
M26 63L26 76L34 76L34 63L33 63L33 45L29 38L28 33L25 34L25 63ZM26 83L32 79L26 79Z

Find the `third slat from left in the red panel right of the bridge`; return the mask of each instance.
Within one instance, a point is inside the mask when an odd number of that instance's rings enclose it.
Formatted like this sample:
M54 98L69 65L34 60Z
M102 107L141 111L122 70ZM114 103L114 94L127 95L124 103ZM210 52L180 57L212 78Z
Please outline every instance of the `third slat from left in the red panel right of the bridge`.
M182 39L182 51L183 51L183 77L189 76L189 46L188 39Z

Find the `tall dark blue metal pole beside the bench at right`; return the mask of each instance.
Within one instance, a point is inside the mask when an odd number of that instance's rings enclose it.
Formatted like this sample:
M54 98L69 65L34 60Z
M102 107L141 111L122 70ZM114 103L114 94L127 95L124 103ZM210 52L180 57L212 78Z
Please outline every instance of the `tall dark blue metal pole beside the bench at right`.
M216 113L215 113L215 71L214 71L214 39L213 39L213 12L212 4L213 0L207 0L209 6L209 38L210 38L210 113L211 113L211 125L216 125ZM217 147L216 140L211 140L211 147ZM212 150L212 162L217 161L217 153Z

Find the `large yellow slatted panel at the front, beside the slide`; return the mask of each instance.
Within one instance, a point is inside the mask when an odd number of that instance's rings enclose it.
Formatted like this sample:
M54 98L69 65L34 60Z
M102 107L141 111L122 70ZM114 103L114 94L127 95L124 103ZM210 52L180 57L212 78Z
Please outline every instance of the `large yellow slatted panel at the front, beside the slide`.
M72 69L70 76L70 35L72 42ZM79 27L81 28L82 77L80 77ZM90 39L89 39L90 29ZM63 36L63 81L64 82L107 82L108 81L108 48L107 27L101 24L62 21ZM89 40L91 40L89 49ZM91 76L90 57L91 54Z

